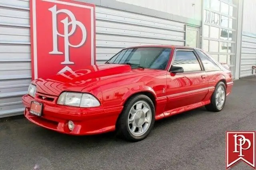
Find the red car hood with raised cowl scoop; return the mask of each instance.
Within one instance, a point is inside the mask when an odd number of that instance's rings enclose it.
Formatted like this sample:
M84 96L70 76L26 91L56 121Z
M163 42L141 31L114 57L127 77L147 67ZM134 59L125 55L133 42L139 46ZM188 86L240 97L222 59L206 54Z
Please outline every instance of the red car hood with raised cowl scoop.
M115 81L118 81L118 79L148 74L148 71L145 72L143 69L134 70L136 71L133 71L130 65L90 65L76 71L65 71L48 79L36 79L32 83L36 85L37 92L58 96L62 91L81 92L86 87L100 86L102 85L102 80L106 82L106 79L109 80L113 77Z

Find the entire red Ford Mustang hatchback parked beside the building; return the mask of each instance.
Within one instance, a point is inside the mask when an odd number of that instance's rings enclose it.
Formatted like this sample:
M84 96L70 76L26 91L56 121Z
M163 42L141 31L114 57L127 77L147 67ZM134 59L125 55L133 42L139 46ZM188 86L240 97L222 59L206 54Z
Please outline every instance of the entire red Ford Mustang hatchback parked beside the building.
M138 141L155 120L201 106L221 111L232 85L228 67L201 49L150 45L36 79L22 100L25 117L36 125L74 135L116 130Z

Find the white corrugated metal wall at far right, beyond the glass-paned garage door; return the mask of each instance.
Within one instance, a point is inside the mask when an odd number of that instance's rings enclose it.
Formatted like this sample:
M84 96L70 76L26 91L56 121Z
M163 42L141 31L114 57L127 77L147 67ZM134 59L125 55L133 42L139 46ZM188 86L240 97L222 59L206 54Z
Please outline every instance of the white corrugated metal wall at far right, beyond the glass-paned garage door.
M256 75L255 69L252 73L252 66L256 66L256 36L242 34L242 49L240 63L240 77Z

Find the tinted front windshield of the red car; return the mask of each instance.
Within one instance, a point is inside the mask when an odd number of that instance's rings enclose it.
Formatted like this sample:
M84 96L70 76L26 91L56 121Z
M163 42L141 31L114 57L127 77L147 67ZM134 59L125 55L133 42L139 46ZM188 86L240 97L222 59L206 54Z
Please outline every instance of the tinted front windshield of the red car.
M107 63L129 64L132 67L165 69L170 56L170 48L129 48L112 57Z

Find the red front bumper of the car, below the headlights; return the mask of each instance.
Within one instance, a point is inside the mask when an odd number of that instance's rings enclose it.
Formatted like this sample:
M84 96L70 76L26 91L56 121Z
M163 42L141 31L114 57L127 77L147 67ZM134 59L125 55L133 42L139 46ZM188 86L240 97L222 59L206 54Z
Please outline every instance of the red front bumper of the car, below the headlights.
M41 117L29 113L31 101L43 103ZM114 131L118 115L123 109L123 107L78 108L62 106L34 99L29 95L24 95L22 102L26 107L24 115L32 123L61 133L74 135ZM68 121L74 122L74 130L68 129Z

